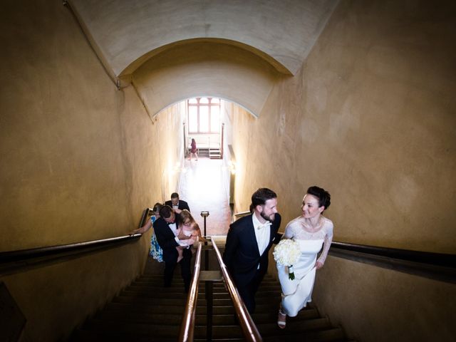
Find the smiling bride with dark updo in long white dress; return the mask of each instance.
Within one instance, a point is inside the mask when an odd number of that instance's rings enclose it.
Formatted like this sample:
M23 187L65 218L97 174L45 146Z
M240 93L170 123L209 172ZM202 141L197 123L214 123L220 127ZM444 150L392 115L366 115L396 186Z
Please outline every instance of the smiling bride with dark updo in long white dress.
M284 239L299 242L301 256L293 265L295 279L290 280L288 266L277 264L282 301L277 324L285 328L286 316L294 317L311 301L316 269L321 269L333 239L333 222L322 213L331 204L331 195L321 187L309 187L302 201L302 215L286 225ZM317 254L323 246L323 252Z

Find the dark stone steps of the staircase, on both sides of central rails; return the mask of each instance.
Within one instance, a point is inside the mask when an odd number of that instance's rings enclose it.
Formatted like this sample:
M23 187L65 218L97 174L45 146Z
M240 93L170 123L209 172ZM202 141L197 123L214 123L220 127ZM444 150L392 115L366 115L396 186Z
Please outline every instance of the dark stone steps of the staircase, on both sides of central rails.
M69 341L177 341L186 295L177 267L170 288L162 275L144 274L77 328ZM348 341L341 328L331 326L314 306L288 318L285 329L276 326L280 284L266 276L257 294L252 316L264 341ZM207 341L204 282L199 284L194 341ZM222 282L214 282L212 341L244 341L234 322L234 308Z

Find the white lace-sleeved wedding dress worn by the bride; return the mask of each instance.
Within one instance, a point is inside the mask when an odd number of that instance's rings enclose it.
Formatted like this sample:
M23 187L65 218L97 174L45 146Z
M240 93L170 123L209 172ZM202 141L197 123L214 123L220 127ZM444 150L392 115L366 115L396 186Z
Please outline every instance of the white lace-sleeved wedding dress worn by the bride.
M322 217L323 224L316 232L308 232L302 222L303 217L297 217L289 222L285 228L284 239L294 239L299 242L301 256L299 261L293 265L294 280L289 279L289 268L277 264L279 281L282 288L281 306L285 313L294 317L303 309L307 303L312 301L312 289L316 274L316 257L324 244L323 252L318 258L324 264L328 255L329 247L333 238L333 223L331 220Z

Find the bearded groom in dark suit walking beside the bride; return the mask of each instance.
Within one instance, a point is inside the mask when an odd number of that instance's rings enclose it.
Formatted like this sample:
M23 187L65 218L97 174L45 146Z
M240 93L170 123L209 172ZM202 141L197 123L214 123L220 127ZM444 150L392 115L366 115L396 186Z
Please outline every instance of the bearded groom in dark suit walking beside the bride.
M250 314L255 310L255 294L268 269L268 254L280 241L281 217L277 213L277 195L261 188L252 195L252 214L229 226L223 254L229 270Z

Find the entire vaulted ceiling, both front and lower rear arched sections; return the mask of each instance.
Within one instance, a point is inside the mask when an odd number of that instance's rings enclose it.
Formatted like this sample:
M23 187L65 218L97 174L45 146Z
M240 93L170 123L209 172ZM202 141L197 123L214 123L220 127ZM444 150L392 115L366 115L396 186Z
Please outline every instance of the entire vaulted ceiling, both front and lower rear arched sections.
M134 82L152 101L152 113L182 98L214 95L255 115L274 81L299 71L337 3L68 1L108 72Z

